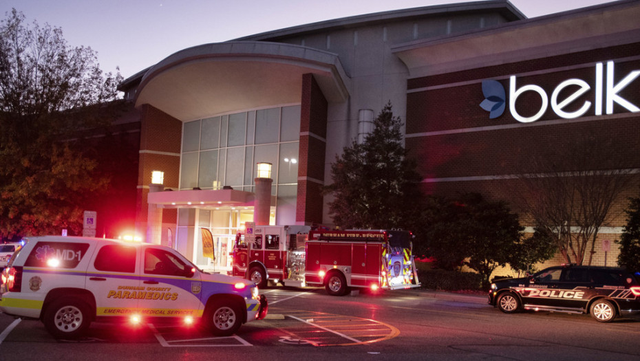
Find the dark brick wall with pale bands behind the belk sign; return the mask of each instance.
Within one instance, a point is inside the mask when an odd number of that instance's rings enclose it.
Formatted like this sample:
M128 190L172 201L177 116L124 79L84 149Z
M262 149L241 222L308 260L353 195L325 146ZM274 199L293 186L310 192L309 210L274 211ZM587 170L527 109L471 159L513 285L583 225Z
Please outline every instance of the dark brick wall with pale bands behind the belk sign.
M566 171L640 168L640 113L633 113L618 104L610 115L595 114L596 63L604 63L603 88L606 93L607 61L615 63L613 84L618 84L640 69L640 43L597 49L550 58L540 58L495 67L468 69L462 72L438 74L411 79L407 83L407 140L409 155L418 161L418 171L423 176L422 188L426 193L455 196L459 193L478 192L489 199L509 201L515 212L521 212L524 189L514 175L533 172L532 158L557 159L568 164ZM549 105L542 118L522 123L509 111L509 76L516 76L515 89L525 85L542 87ZM584 80L590 90L567 105L564 111L577 111L585 102L590 109L583 116L564 119L551 108L552 92L564 80ZM482 80L497 80L506 93L506 107L502 116L489 119L489 113L480 108L484 100ZM559 93L559 100L577 90L568 87ZM617 93L634 105L640 105L640 80L635 80ZM540 95L526 91L515 103L520 116L533 116L541 107ZM603 96L606 107L606 94ZM605 113L605 110L603 110ZM580 166L579 153L567 149L579 149L576 144L606 147L610 158L589 169ZM564 157L564 159L563 159ZM576 159L568 159L576 157ZM633 174L633 186L620 195L604 226L623 226L626 197L637 196L640 175ZM522 218L525 225L530 219ZM613 243L619 233L599 234L595 243L593 264L604 265L605 253L602 240L612 241L607 252L607 264L617 263L619 250ZM589 254L586 254L588 261ZM563 263L557 256L551 263Z

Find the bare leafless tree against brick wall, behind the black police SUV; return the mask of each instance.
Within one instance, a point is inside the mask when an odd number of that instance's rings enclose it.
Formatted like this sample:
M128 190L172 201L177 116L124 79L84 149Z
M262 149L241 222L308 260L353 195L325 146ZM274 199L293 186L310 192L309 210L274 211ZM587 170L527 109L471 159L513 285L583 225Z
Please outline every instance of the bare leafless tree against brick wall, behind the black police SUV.
M591 264L600 228L633 182L632 169L617 154L613 139L586 133L532 153L518 175L522 204L534 221L553 234L567 263ZM588 257L587 257L588 255Z

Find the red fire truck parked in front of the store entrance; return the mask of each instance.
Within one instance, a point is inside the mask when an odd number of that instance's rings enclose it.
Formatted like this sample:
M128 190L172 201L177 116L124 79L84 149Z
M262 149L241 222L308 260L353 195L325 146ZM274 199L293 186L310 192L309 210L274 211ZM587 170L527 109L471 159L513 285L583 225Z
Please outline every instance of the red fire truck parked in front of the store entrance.
M325 287L342 296L350 288L420 287L406 230L311 230L309 226L255 226L237 234L232 274L259 288Z

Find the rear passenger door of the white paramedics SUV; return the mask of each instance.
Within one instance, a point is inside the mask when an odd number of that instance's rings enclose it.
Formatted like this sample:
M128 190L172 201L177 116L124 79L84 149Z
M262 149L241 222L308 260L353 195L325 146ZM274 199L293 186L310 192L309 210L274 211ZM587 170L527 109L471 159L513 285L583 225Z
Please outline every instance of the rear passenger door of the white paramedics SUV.
M96 298L97 316L136 312L140 292L136 252L131 245L118 244L103 245L96 252L94 263L87 270L86 287Z

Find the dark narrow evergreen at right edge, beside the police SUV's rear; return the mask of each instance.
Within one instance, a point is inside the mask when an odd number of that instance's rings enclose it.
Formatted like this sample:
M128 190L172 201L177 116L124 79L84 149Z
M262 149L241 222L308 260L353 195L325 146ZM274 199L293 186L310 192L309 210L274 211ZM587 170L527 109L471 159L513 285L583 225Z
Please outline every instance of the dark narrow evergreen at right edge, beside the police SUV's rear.
M627 224L624 226L620 240L620 254L618 264L629 270L640 270L640 196L630 197L627 214Z

